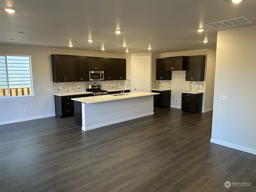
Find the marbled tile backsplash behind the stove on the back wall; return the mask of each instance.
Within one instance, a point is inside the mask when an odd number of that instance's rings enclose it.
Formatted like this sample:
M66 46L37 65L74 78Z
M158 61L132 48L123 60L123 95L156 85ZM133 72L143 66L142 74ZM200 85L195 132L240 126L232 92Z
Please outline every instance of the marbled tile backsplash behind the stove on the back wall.
M68 93L68 92L81 92L86 91L86 85L100 84L102 90L116 89L116 84L120 80L113 81L84 81L84 82L53 82L53 92L55 93ZM131 88L131 80L121 80L124 82L124 88ZM79 88L78 88L79 87Z

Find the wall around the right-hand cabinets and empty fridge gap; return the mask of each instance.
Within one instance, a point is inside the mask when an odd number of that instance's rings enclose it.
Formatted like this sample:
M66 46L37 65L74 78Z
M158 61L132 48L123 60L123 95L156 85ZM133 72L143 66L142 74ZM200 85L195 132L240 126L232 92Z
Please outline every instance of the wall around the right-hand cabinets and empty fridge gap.
M213 108L214 73L216 51L211 49L188 50L160 54L160 58L175 56L205 55L205 76L202 112L211 111ZM190 82L186 81L186 71L172 71L171 107L181 108L181 92L189 90ZM207 85L207 89L206 89ZM175 100L178 99L178 102Z

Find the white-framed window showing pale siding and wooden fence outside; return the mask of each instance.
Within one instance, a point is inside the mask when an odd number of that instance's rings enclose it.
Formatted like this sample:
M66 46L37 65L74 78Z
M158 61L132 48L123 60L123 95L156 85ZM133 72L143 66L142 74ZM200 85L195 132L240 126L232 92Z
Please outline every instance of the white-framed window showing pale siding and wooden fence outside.
M30 56L0 55L0 98L33 96Z

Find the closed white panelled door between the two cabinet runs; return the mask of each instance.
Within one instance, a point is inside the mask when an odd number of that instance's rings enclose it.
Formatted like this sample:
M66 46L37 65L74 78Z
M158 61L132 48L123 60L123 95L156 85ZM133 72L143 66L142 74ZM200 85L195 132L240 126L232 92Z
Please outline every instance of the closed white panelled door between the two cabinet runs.
M134 58L134 91L150 92L149 58Z

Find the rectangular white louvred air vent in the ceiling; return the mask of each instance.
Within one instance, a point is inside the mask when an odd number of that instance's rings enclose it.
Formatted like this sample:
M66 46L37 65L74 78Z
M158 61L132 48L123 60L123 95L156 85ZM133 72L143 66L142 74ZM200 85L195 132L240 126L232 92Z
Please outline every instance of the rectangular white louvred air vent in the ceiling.
M233 19L228 19L223 21L207 23L205 25L215 29L221 29L221 28L239 26L239 25L244 25L249 23L253 23L253 22L246 17L238 17L238 18L233 18Z

